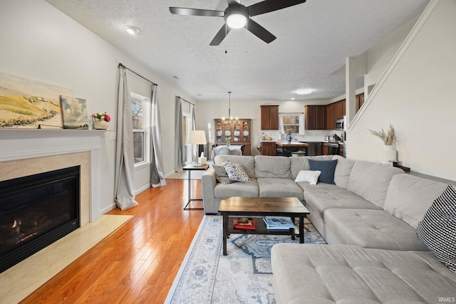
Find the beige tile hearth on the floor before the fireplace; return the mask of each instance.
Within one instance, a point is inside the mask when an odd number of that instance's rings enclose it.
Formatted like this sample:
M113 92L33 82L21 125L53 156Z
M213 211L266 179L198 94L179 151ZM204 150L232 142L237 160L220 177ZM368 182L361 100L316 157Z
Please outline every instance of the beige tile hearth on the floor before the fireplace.
M19 303L132 217L103 214L0 273L0 304Z

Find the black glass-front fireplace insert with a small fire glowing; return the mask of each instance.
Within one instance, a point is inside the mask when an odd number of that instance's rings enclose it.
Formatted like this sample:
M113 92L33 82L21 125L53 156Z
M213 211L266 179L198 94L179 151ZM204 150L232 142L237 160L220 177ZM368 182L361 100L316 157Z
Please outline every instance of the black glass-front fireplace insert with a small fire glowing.
M0 182L0 273L79 228L80 167Z

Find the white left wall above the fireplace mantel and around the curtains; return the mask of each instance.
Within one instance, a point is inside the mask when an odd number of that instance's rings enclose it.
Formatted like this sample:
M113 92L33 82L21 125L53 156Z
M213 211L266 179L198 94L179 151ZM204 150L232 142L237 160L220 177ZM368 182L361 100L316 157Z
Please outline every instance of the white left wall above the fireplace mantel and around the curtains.
M87 100L89 113L112 115L101 150L103 213L113 208L115 141L110 133L117 124L118 63L158 84L165 174L174 172L175 95L192 100L185 93L43 0L1 0L0 37L1 72L71 88ZM138 175L136 187L147 186L147 174Z

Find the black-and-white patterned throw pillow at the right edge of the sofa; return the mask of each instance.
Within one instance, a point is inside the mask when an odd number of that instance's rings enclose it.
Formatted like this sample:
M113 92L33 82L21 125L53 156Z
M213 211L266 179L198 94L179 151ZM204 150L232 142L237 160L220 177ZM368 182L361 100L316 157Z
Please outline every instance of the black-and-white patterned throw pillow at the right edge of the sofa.
M456 189L448 185L427 210L416 229L426 246L456 273Z

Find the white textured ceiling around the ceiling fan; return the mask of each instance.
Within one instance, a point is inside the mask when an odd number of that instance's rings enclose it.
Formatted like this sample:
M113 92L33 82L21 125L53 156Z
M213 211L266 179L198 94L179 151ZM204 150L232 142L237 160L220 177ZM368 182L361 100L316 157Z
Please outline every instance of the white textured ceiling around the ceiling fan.
M224 11L227 0L46 0L138 58L195 100L309 100L345 93L331 75L423 12L429 0L307 0L252 19L276 36L264 43L245 28L209 46L223 18L177 16L169 6ZM259 0L243 0L249 6ZM124 26L140 32L130 36ZM178 79L175 79L177 76ZM363 86L359 77L357 87ZM312 88L310 95L296 95Z

